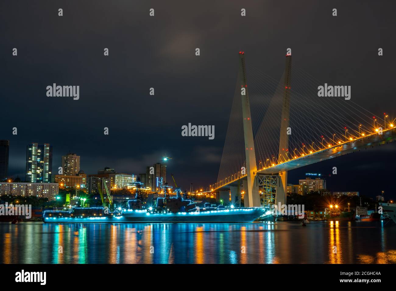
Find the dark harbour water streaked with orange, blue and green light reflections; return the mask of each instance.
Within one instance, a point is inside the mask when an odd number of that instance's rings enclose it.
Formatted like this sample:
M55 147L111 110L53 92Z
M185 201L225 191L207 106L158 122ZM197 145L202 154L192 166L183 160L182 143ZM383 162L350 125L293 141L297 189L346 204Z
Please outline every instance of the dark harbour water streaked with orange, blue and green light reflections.
M396 263L390 222L0 224L1 263Z

